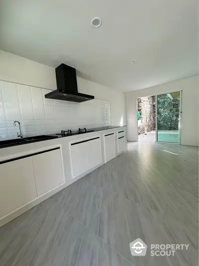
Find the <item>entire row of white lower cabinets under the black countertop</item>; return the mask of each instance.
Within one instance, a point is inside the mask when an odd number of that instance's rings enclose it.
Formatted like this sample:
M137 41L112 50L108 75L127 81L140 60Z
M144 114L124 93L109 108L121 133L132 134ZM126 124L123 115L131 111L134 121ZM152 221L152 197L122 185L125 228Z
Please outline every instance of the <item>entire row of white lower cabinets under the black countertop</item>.
M114 133L114 137L104 137L110 133ZM55 145L56 148L52 148ZM52 196L66 184L75 182L76 177L83 177L96 169L104 159L105 162L111 160L126 147L126 127L117 127L1 148L0 226ZM18 158L13 158L16 156ZM3 161L5 157L10 159Z

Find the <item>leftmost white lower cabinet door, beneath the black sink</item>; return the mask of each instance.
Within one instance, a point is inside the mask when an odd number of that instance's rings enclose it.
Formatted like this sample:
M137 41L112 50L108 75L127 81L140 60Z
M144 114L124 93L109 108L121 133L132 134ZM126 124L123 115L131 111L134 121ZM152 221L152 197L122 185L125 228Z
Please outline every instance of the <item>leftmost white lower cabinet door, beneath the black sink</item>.
M36 197L32 157L0 164L0 217Z

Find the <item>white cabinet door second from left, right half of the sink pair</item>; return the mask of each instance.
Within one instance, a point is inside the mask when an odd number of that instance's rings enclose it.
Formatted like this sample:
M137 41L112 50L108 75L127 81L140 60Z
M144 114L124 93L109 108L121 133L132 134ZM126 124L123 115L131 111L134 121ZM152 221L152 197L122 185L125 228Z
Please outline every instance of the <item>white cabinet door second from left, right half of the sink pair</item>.
M61 149L54 148L49 151L32 156L37 188L37 196L64 183Z

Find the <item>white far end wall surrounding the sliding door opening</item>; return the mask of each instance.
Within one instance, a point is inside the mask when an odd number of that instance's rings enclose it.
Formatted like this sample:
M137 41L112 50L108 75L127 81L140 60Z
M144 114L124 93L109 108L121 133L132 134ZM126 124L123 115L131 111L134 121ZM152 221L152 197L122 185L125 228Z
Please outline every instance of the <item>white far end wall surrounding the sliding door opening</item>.
M181 144L199 146L199 76L126 93L128 141L138 141L137 98L179 90L183 91Z

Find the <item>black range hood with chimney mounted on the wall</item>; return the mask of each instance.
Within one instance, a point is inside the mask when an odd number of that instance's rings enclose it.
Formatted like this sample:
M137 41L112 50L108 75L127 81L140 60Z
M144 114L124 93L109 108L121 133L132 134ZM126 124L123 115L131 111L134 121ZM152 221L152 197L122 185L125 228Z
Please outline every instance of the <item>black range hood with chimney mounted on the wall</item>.
M45 94L45 98L69 102L85 102L95 97L78 92L76 69L65 64L55 68L57 90Z

